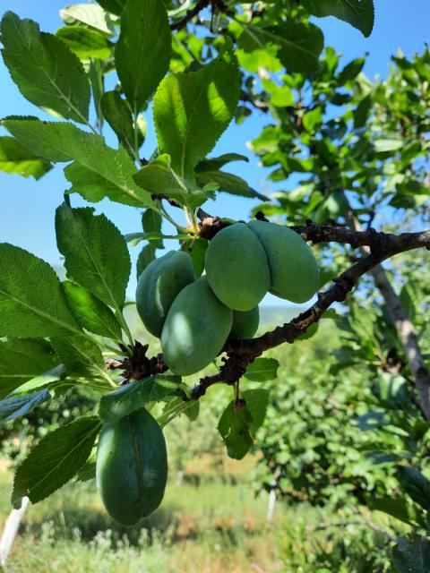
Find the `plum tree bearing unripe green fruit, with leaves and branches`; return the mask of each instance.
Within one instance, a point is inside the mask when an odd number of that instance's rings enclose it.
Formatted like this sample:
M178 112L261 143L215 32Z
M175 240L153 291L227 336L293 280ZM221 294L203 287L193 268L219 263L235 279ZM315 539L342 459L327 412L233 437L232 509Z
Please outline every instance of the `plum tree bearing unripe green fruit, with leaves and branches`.
M70 187L56 216L68 282L30 252L0 244L0 418L26 416L52 398L69 404L64 387L84 387L99 404L95 415L91 402L90 415L60 425L30 450L16 470L14 507L27 497L44 499L74 475L91 476L88 460L99 435L100 495L113 517L138 522L159 505L166 484L160 427L218 383L234 391L219 433L228 455L243 458L268 406L260 383L277 375L277 361L262 354L301 342L324 317L337 320L331 305L345 301L367 273L397 329L392 346L404 355L399 368L408 363L405 379L417 390L410 401L419 404L423 419L413 432L425 432L425 325L418 339L408 316L413 295L410 289L397 295L381 264L412 249L424 252L430 231L384 234L371 225L383 221L374 219L374 211L388 209L388 202L391 210L410 210L410 217L399 218L401 231L409 229L408 220L415 227L428 222L428 50L412 62L396 58L399 78L372 86L361 76L364 60L338 72L335 51L329 47L322 56L323 34L310 19L335 16L368 36L373 0L99 4L103 9L95 3L64 9L56 35L14 13L5 13L1 24L11 78L31 104L56 120L14 112L6 117L0 169L39 179L65 163ZM204 9L211 18L200 18ZM197 22L208 33L196 33ZM112 91L105 90L107 73L117 79ZM145 141L149 109L155 130ZM275 166L272 181L300 174L297 190L262 195L224 169L245 156L211 155L228 124L240 124L254 109L270 121L251 150L263 166ZM340 116L334 118L336 109ZM117 138L113 147L103 138L106 124ZM154 139L155 149L148 149ZM258 220L236 222L202 209L221 192L263 201L254 206ZM93 208L73 208L73 193L90 203L109 199L144 210L142 228L122 235ZM271 216L278 224L263 220ZM163 233L162 221L174 235ZM157 257L171 240L180 250ZM125 318L132 269L127 243L142 241L136 304L146 329L161 339L162 355L147 356L149 343L135 339ZM320 277L307 243L333 242L338 246L330 251L318 247ZM206 275L195 280L193 269ZM391 270L401 274L398 267ZM254 337L257 305L267 292L305 303L326 283L300 316ZM416 314L426 308L417 304ZM361 344L370 330L361 329L353 359L341 349L349 363L372 347ZM368 353L360 356L375 367L383 353ZM206 366L196 384L181 378ZM388 372L391 364L383 366ZM259 388L242 391L243 377ZM422 502L430 485L413 475L409 492L417 498L422 486Z

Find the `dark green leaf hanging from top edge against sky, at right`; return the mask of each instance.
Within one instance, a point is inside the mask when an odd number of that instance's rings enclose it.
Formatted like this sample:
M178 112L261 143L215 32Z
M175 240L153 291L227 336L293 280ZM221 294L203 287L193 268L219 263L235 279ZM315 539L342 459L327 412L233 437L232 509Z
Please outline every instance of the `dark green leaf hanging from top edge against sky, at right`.
M306 10L314 16L335 16L368 37L374 28L374 0L303 0Z

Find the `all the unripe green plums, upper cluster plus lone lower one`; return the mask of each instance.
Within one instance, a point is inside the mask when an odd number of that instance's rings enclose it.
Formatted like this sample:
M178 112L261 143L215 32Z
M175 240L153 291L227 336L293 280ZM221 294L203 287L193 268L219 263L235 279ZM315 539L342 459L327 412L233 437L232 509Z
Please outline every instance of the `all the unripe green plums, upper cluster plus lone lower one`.
M186 252L168 252L139 278L137 310L161 338L175 374L199 372L228 337L252 338L258 304L267 292L305 303L317 291L319 270L300 235L265 221L236 223L211 240L206 274L195 278ZM96 477L107 512L134 525L159 507L168 479L166 442L159 423L142 408L106 423L99 437Z

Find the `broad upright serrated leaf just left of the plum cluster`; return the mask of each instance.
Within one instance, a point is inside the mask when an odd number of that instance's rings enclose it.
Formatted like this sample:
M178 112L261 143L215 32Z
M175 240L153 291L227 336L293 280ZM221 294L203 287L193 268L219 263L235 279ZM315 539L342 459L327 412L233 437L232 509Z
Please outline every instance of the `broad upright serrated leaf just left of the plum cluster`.
M105 215L87 207L56 210L56 242L67 277L118 309L125 302L131 262L125 238Z

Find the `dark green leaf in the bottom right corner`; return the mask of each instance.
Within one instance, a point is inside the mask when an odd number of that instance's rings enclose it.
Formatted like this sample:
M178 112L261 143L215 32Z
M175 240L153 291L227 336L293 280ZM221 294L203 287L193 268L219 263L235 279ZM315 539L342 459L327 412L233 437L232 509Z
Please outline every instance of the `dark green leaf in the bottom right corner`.
M414 533L400 537L392 550L392 564L396 573L428 573L430 540Z

